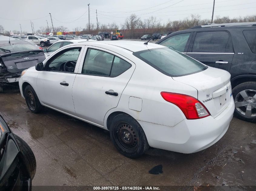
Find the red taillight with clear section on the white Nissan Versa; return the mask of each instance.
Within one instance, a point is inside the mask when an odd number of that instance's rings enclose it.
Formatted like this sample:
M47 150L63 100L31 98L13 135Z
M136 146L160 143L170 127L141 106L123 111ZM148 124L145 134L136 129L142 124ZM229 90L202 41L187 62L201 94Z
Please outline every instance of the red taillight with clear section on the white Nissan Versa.
M210 115L203 103L192 96L164 91L161 92L161 96L178 106L187 119L200 119Z

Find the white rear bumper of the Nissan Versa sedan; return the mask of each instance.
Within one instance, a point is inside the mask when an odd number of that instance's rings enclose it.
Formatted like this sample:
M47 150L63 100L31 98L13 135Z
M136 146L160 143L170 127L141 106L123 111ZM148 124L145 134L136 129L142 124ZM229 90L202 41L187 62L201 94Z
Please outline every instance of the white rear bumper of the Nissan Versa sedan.
M202 119L184 119L176 126L163 126L139 121L148 144L181 153L194 153L216 143L227 132L234 113L234 100L217 117L208 116Z

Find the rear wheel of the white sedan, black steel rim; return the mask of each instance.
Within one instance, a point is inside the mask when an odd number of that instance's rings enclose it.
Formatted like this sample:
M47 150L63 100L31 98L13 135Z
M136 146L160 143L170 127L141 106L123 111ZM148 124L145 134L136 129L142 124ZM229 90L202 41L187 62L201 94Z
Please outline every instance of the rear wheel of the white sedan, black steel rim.
M128 114L121 113L112 119L110 137L117 150L128 158L137 158L149 148L142 127Z

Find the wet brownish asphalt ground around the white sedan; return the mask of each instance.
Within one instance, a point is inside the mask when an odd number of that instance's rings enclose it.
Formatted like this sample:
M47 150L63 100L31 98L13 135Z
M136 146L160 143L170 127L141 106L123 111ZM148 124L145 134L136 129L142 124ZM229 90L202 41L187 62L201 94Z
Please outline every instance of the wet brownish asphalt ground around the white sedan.
M0 94L0 114L35 154L33 186L256 185L255 123L233 118L220 141L197 153L150 148L130 159L106 130L48 108L31 113L17 89ZM148 173L157 165L162 174Z

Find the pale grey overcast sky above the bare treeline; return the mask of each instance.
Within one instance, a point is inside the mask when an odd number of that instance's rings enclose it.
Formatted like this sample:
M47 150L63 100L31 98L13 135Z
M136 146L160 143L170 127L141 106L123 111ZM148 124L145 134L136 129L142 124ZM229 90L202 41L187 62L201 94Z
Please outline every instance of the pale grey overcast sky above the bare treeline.
M88 23L88 3L90 3L90 22L112 23L120 26L125 18L135 13L141 19L156 16L166 23L168 19L177 20L190 14L199 14L202 19L211 19L213 0L9 0L1 1L0 25L5 30L32 32L30 20L35 31L49 26L52 14L53 26L64 25L69 31L75 27L85 27ZM256 14L256 0L215 0L214 18L230 18Z

